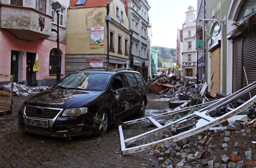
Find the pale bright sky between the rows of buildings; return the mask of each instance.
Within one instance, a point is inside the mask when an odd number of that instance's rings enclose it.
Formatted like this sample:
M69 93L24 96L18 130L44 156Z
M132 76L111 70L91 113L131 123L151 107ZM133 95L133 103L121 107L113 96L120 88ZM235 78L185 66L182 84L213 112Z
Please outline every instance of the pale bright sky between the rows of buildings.
M151 9L148 18L152 23L151 46L176 48L177 30L182 29L188 7L197 10L197 0L147 0Z

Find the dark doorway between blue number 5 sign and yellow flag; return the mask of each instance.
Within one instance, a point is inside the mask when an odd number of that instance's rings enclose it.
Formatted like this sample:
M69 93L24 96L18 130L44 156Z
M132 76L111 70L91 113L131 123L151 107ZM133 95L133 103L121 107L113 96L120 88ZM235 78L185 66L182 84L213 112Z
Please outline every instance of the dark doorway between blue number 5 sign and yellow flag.
M35 53L27 52L26 80L28 86L37 86L36 72L33 72Z

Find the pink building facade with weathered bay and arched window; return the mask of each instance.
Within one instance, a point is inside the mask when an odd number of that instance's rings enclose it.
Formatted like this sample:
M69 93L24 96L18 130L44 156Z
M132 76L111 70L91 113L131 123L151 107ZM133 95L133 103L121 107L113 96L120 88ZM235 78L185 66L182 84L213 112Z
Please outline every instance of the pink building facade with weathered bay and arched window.
M0 1L0 72L14 75L14 82L52 86L56 82L57 14L52 0ZM59 0L60 77L65 74L66 14L68 1ZM33 71L38 55L40 70ZM5 83L5 79L1 79ZM9 81L10 82L10 81Z

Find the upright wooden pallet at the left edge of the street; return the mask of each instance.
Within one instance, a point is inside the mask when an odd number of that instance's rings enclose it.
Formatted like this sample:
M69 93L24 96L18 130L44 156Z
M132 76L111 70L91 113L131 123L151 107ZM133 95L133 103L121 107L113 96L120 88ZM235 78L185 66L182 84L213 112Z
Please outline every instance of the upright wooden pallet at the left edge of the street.
M0 74L0 78L10 78L10 81L11 81L10 91L0 91L0 104L1 105L4 105L4 104L7 105L7 106L0 106L0 113L12 114L13 75ZM8 97L8 99L6 99L4 97Z

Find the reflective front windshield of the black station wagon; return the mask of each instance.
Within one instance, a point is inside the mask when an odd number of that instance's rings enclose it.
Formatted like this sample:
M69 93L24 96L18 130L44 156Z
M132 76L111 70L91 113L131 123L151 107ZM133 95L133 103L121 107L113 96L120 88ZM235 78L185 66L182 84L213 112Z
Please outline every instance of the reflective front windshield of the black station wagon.
M105 90L111 76L112 74L95 72L72 73L61 80L56 86L65 89Z

